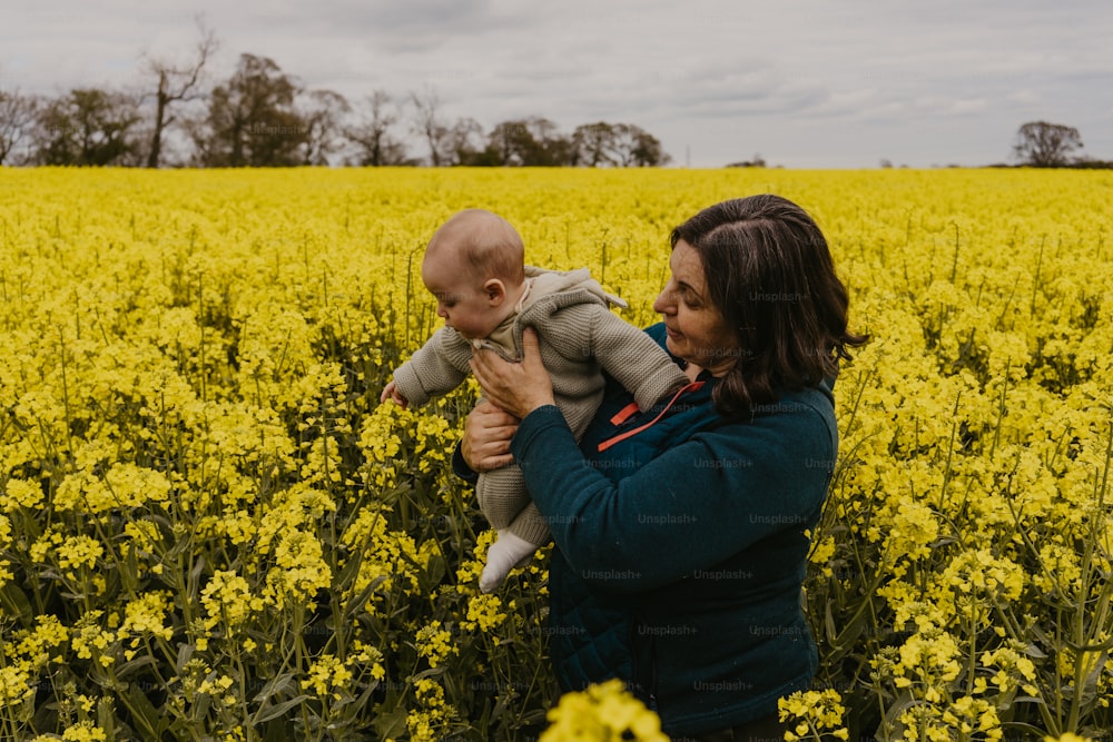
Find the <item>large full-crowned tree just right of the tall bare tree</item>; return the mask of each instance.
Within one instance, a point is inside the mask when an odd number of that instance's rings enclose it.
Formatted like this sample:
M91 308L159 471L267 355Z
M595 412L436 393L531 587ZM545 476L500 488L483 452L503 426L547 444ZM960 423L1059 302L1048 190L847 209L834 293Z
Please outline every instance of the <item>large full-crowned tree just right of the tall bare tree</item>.
M213 89L208 115L193 126L200 165L301 165L308 128L294 101L298 86L273 59L240 55L232 78Z

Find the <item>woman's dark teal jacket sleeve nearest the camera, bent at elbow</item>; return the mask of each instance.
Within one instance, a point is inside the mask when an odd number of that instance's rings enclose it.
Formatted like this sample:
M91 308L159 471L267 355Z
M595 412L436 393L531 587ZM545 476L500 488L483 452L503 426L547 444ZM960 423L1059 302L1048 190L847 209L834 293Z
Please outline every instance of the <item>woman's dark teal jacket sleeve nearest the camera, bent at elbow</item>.
M786 528L802 533L826 497L828 468L817 462L834 459L835 435L801 408L697 433L614 482L546 406L522 421L511 453L572 567L597 588L633 593Z

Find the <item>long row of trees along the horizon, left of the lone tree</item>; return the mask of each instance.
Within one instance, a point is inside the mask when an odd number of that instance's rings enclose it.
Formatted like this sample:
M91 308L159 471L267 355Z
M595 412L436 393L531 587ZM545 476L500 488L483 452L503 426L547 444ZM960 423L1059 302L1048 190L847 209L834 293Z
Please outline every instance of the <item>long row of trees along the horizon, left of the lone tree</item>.
M209 31L185 62L145 58L148 85L138 92L76 88L50 98L0 89L0 165L654 167L671 159L633 123L564 133L531 116L487 131L470 117L445 118L434 88L376 89L353 103L250 53L207 87L216 46Z

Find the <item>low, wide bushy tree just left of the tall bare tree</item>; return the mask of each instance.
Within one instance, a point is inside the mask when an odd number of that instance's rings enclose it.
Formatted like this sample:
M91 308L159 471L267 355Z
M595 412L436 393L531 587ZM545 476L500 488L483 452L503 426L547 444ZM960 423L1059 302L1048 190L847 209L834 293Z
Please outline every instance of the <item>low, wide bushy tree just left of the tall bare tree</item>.
M40 165L137 165L140 121L131 96L79 88L39 109L32 159Z

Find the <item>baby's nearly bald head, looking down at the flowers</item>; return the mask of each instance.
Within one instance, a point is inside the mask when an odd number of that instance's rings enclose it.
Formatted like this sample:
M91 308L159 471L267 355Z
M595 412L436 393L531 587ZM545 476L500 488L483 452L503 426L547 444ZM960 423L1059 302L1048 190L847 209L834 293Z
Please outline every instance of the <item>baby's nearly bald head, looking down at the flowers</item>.
M496 214L466 209L441 225L421 266L436 314L469 339L486 337L514 310L525 283L525 247Z

